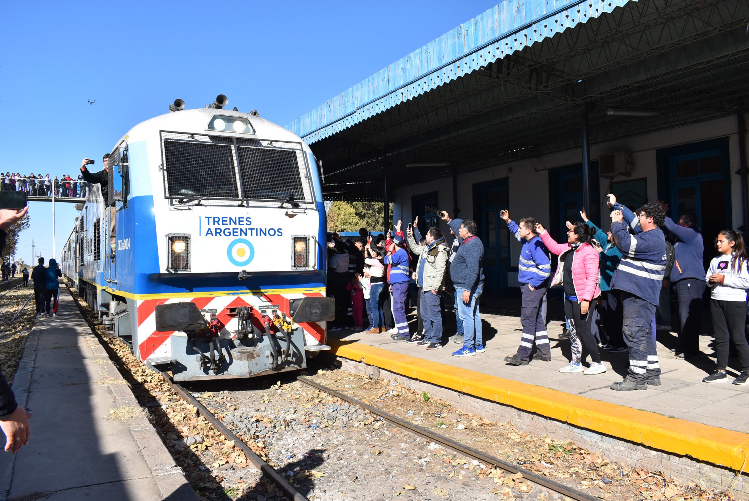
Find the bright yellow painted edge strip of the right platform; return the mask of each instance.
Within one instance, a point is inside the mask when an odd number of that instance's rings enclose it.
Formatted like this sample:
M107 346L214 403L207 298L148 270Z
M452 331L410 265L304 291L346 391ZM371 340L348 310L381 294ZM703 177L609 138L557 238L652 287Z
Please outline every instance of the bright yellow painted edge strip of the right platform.
M453 365L329 339L331 353L414 380L494 401L586 430L739 470L746 468L749 434L667 418Z

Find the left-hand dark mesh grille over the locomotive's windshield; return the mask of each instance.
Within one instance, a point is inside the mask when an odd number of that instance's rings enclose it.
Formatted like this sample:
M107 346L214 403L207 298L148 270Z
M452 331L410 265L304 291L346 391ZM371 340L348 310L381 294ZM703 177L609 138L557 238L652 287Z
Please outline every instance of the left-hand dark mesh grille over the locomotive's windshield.
M164 141L169 198L239 198L230 145Z

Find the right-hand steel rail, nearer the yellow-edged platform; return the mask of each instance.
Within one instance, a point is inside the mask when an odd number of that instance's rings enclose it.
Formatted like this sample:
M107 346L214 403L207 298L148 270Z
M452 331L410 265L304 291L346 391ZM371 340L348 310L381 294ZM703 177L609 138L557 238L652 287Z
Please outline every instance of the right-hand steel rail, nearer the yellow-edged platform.
M422 428L418 425L413 425L413 423L410 423L404 419L398 418L398 416L393 416L392 414L384 410L377 409L377 407L372 407L371 405L365 404L363 401L359 401L356 398L351 398L348 395L345 395L341 392L336 392L336 390L328 388L327 386L323 386L320 383L316 383L315 381L309 380L306 377L300 376L300 377L297 377L297 380L300 381L301 383L312 386L312 388L321 390L321 392L326 392L330 395L333 395L336 398L340 398L342 401L348 402L349 404L358 405L359 407L362 407L363 409L369 410L370 413L380 416L383 419L388 420L389 422L392 422L394 425L398 426L399 428L403 428L404 430L410 431L411 433L416 434L419 437L422 437L422 438L431 440L432 442L439 443L443 446L449 447L450 449L460 452L461 454L467 455L469 458L482 461L482 463L488 463L494 466L499 466L501 469L504 469L510 473L521 473L521 475L523 475L524 478L527 478L528 480L533 481L536 484L542 485L544 487L548 487L551 490L554 490L565 496L571 497L572 499L577 499L578 501L600 501L600 499L598 499L598 497L596 496L592 496L588 493L584 493L581 490L577 490L574 487L570 487L558 481L554 481L551 478L546 478L545 476L538 475L534 472L530 472L529 470L521 468L518 465L508 463L507 461L501 460L500 458L495 458L494 456L488 455L485 452L479 451L478 449L473 449L473 447L469 447L469 446L466 446L465 444L455 442L455 440L452 440L448 437L444 437L443 435L435 434L434 432L429 431L426 428Z

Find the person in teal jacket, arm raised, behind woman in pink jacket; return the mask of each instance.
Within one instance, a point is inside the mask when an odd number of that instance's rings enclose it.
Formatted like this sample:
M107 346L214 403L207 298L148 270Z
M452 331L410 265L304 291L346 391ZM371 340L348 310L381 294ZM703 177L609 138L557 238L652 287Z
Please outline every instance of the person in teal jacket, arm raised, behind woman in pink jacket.
M611 278L613 272L619 268L619 261L622 260L622 252L616 248L611 240L611 232L604 233L604 230L595 226L588 219L585 208L580 211L580 217L583 221L595 230L595 240L598 242L601 255L601 323L606 332L608 341L604 344L604 350L613 353L622 353L627 351L627 344L624 342L622 335L622 300L619 290L611 289Z

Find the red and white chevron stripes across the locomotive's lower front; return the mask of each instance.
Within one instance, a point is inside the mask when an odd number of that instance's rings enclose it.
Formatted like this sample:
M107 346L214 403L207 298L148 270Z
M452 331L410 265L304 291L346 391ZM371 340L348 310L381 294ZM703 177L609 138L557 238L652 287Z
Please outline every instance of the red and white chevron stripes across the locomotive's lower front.
M246 294L242 296L213 296L207 298L165 298L165 299L140 299L137 301L138 317L138 353L141 360L151 356L172 356L169 343L165 343L174 332L157 332L156 330L156 307L166 303L193 302L199 310L216 310L216 318L224 325L222 334L231 333L232 337L237 331L236 317L228 315L229 308L239 306L252 306L252 323L255 328L264 329L260 321L258 310L278 305L279 310L288 315L288 300L304 297L320 297L321 293L288 293L288 294ZM210 316L206 315L206 320ZM304 330L304 341L307 346L314 344L325 344L325 329L317 323L297 323ZM143 340L143 341L142 341Z

